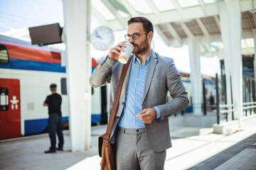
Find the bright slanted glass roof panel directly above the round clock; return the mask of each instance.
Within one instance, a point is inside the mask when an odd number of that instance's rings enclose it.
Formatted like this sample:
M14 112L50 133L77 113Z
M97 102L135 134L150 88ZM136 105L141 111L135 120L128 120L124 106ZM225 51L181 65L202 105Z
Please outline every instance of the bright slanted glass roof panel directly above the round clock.
M93 0L92 1L92 6L97 10L98 13L104 13L102 15L106 20L114 20L115 17L114 15L110 12L110 10L102 3L100 0Z

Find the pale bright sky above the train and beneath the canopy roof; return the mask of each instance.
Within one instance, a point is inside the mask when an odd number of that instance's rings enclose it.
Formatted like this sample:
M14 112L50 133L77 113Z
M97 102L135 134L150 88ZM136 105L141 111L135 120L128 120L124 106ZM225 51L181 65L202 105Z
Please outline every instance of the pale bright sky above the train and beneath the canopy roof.
M102 24L97 18L91 18L91 33ZM63 19L63 2L61 0L0 0L0 33L8 30L42 26L50 23L60 23L65 26ZM168 47L161 37L154 31L153 46L159 55L174 59L176 68L183 72L190 72L188 46ZM124 39L127 30L114 31L114 45ZM108 51L96 50L91 45L91 56L96 60L107 56ZM201 57L201 74L215 76L220 73L218 57Z

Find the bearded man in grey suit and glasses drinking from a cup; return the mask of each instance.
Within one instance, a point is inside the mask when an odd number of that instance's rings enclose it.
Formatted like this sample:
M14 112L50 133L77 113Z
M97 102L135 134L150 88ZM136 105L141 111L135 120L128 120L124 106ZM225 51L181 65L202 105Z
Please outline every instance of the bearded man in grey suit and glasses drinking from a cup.
M117 146L117 169L164 169L166 149L171 147L168 118L189 103L174 60L151 50L153 35L153 25L147 18L128 21L125 38L134 46L133 58L110 135L110 142ZM124 42L110 49L90 77L94 87L111 83L110 111L124 67L117 62ZM173 98L169 102L168 91Z

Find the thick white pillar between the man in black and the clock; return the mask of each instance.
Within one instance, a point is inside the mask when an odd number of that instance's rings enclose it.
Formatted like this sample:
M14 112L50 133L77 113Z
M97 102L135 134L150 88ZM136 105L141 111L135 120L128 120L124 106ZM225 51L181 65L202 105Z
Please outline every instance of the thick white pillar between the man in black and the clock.
M66 70L70 103L69 127L73 152L90 148L90 8L90 0L63 0L68 54Z

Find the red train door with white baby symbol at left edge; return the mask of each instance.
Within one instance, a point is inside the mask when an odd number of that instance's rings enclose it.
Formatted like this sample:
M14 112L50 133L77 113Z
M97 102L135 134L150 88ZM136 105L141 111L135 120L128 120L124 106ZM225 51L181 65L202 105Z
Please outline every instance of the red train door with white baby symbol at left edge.
M0 140L20 136L20 81L18 79L0 79Z

